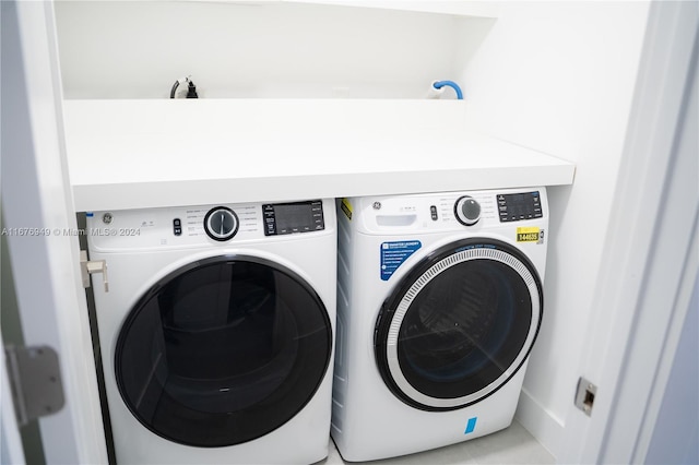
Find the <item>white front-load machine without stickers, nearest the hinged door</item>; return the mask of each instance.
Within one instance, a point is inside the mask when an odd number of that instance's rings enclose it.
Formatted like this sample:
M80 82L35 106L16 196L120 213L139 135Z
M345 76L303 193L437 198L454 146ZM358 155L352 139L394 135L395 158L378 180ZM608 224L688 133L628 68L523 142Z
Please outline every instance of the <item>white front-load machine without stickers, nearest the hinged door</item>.
M334 199L91 212L86 233L117 463L328 455Z

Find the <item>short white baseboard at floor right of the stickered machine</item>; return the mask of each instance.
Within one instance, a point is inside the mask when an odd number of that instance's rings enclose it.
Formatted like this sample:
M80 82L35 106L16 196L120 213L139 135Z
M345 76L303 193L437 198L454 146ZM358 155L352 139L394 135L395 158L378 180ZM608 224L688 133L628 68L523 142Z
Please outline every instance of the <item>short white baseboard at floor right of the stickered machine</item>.
M564 422L522 390L514 418L556 457L564 437Z

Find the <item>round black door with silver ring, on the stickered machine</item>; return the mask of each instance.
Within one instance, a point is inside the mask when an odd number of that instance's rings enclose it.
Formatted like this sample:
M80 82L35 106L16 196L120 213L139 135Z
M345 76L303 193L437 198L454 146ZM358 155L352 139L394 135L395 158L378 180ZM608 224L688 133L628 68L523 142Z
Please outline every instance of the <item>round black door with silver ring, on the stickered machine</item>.
M375 351L403 402L450 410L500 389L522 367L542 320L538 274L516 248L464 239L418 263L381 309Z

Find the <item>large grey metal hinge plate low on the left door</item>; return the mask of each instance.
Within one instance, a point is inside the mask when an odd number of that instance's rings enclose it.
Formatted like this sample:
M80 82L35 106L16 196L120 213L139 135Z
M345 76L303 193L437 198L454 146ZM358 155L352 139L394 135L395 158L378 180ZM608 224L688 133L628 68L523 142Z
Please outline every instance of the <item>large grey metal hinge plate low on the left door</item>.
M48 346L8 345L4 354L20 426L63 408L66 401L56 350Z

